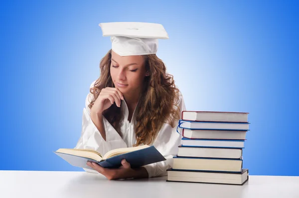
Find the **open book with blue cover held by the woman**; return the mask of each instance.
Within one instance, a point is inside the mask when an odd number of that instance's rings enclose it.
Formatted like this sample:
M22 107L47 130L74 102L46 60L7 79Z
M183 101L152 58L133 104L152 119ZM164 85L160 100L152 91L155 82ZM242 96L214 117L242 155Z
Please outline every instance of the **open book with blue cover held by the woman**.
M86 169L92 169L86 165L87 162L98 163L104 168L118 168L126 159L132 168L137 168L166 160L154 146L148 145L114 149L104 156L90 149L58 149L54 153L70 165Z

